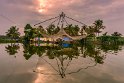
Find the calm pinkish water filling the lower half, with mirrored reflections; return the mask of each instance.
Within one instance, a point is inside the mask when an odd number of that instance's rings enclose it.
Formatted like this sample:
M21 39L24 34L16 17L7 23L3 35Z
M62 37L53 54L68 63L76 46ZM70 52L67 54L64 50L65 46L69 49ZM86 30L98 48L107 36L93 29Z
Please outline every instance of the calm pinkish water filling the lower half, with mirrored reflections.
M124 83L122 46L0 44L0 83Z

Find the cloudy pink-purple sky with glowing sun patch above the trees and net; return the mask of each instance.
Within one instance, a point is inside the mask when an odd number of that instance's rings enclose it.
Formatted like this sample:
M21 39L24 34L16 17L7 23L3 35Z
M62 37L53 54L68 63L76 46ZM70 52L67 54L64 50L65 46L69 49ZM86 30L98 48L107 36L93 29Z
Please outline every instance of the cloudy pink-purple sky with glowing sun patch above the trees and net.
M87 25L101 19L104 32L124 34L124 0L0 0L0 35L11 26L22 33L27 23L34 25L62 11Z

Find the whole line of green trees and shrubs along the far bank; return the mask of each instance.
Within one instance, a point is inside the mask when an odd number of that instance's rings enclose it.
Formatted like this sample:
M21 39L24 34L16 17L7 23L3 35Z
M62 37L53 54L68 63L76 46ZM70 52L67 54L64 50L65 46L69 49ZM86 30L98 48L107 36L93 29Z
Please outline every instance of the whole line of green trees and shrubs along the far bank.
M110 42L114 41L117 42L117 40L120 41L120 38L122 34L119 32L114 32L111 35L108 35L107 32L104 33L102 36L99 34L102 33L103 29L106 27L103 25L103 20L96 20L92 25L83 25L82 27L79 27L78 25L69 24L64 27L65 32L70 36L78 36L83 35L84 30L87 33L87 39L88 37L91 37L92 39L98 39L100 42ZM17 40L26 40L30 41L30 39L33 39L35 37L43 37L43 34L46 35L54 35L60 31L61 27L55 26L54 24L49 25L48 27L38 26L38 27L32 27L30 24L26 24L24 27L24 36L20 36L19 28L16 26L10 27L10 29L6 32L6 37L0 37L0 42L7 39L11 41L17 41ZM124 41L124 40L121 40Z

